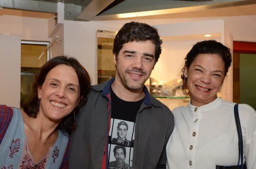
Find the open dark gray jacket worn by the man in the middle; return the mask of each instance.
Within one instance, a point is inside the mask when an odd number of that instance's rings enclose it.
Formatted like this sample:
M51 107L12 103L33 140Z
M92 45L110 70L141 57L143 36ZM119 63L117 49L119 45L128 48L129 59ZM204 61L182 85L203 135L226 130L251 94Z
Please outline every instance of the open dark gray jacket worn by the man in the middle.
M86 105L80 110L77 129L71 135L69 169L102 169L111 112L110 86L115 79L92 86ZM174 128L174 117L167 106L149 95L135 121L133 169L165 169L166 144ZM108 168L107 168L108 169Z

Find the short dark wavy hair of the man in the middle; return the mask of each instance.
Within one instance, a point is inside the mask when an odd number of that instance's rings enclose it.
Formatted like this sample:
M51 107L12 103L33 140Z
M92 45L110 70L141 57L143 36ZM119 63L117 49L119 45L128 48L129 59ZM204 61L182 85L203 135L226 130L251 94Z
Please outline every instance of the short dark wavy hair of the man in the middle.
M155 44L155 63L161 54L162 39L158 35L157 29L146 23L129 22L126 23L117 33L114 40L113 54L116 59L123 44L133 41L151 40Z

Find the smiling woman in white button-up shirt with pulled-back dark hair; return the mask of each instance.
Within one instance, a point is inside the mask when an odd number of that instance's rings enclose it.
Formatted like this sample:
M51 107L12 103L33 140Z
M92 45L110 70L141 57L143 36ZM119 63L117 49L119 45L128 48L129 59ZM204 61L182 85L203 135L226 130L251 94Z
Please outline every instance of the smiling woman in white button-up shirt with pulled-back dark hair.
M191 99L189 105L172 111L175 127L166 146L167 168L243 169L245 161L239 160L234 115L236 103L217 97L231 65L229 48L214 40L198 42L184 65L182 88L188 89ZM256 169L256 112L247 104L239 104L238 111L242 154L247 169Z

